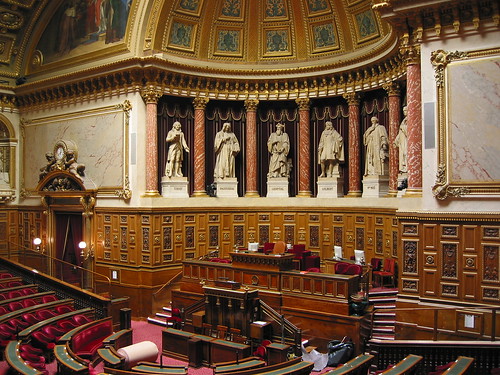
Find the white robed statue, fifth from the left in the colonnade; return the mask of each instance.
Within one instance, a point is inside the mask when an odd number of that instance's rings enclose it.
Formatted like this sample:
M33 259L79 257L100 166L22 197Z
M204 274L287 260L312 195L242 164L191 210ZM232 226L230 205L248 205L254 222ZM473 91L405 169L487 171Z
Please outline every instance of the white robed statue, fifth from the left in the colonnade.
M371 118L371 126L363 135L366 146L365 176L380 176L387 174L385 166L388 154L387 130L380 125L378 118Z

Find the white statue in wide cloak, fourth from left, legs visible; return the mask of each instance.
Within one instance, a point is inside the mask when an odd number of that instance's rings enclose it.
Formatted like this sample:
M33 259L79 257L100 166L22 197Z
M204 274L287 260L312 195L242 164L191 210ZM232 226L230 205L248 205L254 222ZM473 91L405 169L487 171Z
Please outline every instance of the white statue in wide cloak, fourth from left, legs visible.
M339 163L344 161L344 139L333 128L331 121L325 122L318 145L318 163L321 165L320 177L340 176Z

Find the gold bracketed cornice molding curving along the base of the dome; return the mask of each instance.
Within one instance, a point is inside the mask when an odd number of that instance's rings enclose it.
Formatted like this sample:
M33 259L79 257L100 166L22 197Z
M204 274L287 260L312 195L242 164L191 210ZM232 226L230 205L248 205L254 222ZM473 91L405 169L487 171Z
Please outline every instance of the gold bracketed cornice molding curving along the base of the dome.
M350 91L373 90L401 79L406 64L396 55L356 70L297 78L218 78L174 72L155 57L129 59L59 77L26 83L15 89L20 108L42 109L97 100L156 87L163 95L206 96L221 100L295 100L322 98Z

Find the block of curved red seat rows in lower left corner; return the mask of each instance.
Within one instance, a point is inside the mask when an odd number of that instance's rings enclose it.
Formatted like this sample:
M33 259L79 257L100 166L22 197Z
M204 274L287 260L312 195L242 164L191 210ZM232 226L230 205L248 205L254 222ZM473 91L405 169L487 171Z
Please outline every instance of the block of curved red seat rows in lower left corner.
M47 374L58 339L93 315L91 308L76 310L73 300L0 271L0 350L15 372Z

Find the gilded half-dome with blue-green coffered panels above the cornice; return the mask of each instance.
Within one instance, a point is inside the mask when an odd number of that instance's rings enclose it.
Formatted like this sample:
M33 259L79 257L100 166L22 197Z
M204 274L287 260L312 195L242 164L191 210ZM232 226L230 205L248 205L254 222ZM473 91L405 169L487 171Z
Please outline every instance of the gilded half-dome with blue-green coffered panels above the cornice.
M165 1L151 24L146 48L228 71L345 69L395 47L370 0Z

